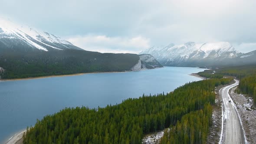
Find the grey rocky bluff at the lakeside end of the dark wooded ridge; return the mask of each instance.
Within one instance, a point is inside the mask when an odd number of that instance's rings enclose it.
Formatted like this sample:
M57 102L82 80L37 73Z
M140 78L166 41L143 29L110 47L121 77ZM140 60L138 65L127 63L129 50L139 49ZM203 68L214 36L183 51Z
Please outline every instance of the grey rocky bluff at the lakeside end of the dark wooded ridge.
M163 67L153 56L148 54L139 55L140 59L138 63L134 65L131 70L132 71L139 71L142 69L155 69Z

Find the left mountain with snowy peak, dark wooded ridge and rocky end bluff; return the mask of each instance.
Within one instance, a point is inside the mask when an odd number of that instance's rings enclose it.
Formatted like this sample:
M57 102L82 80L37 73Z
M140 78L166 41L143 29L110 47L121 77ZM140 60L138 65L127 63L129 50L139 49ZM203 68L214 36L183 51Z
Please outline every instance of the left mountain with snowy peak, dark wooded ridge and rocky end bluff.
M158 67L162 65L149 54L90 52L59 36L0 18L2 79Z

